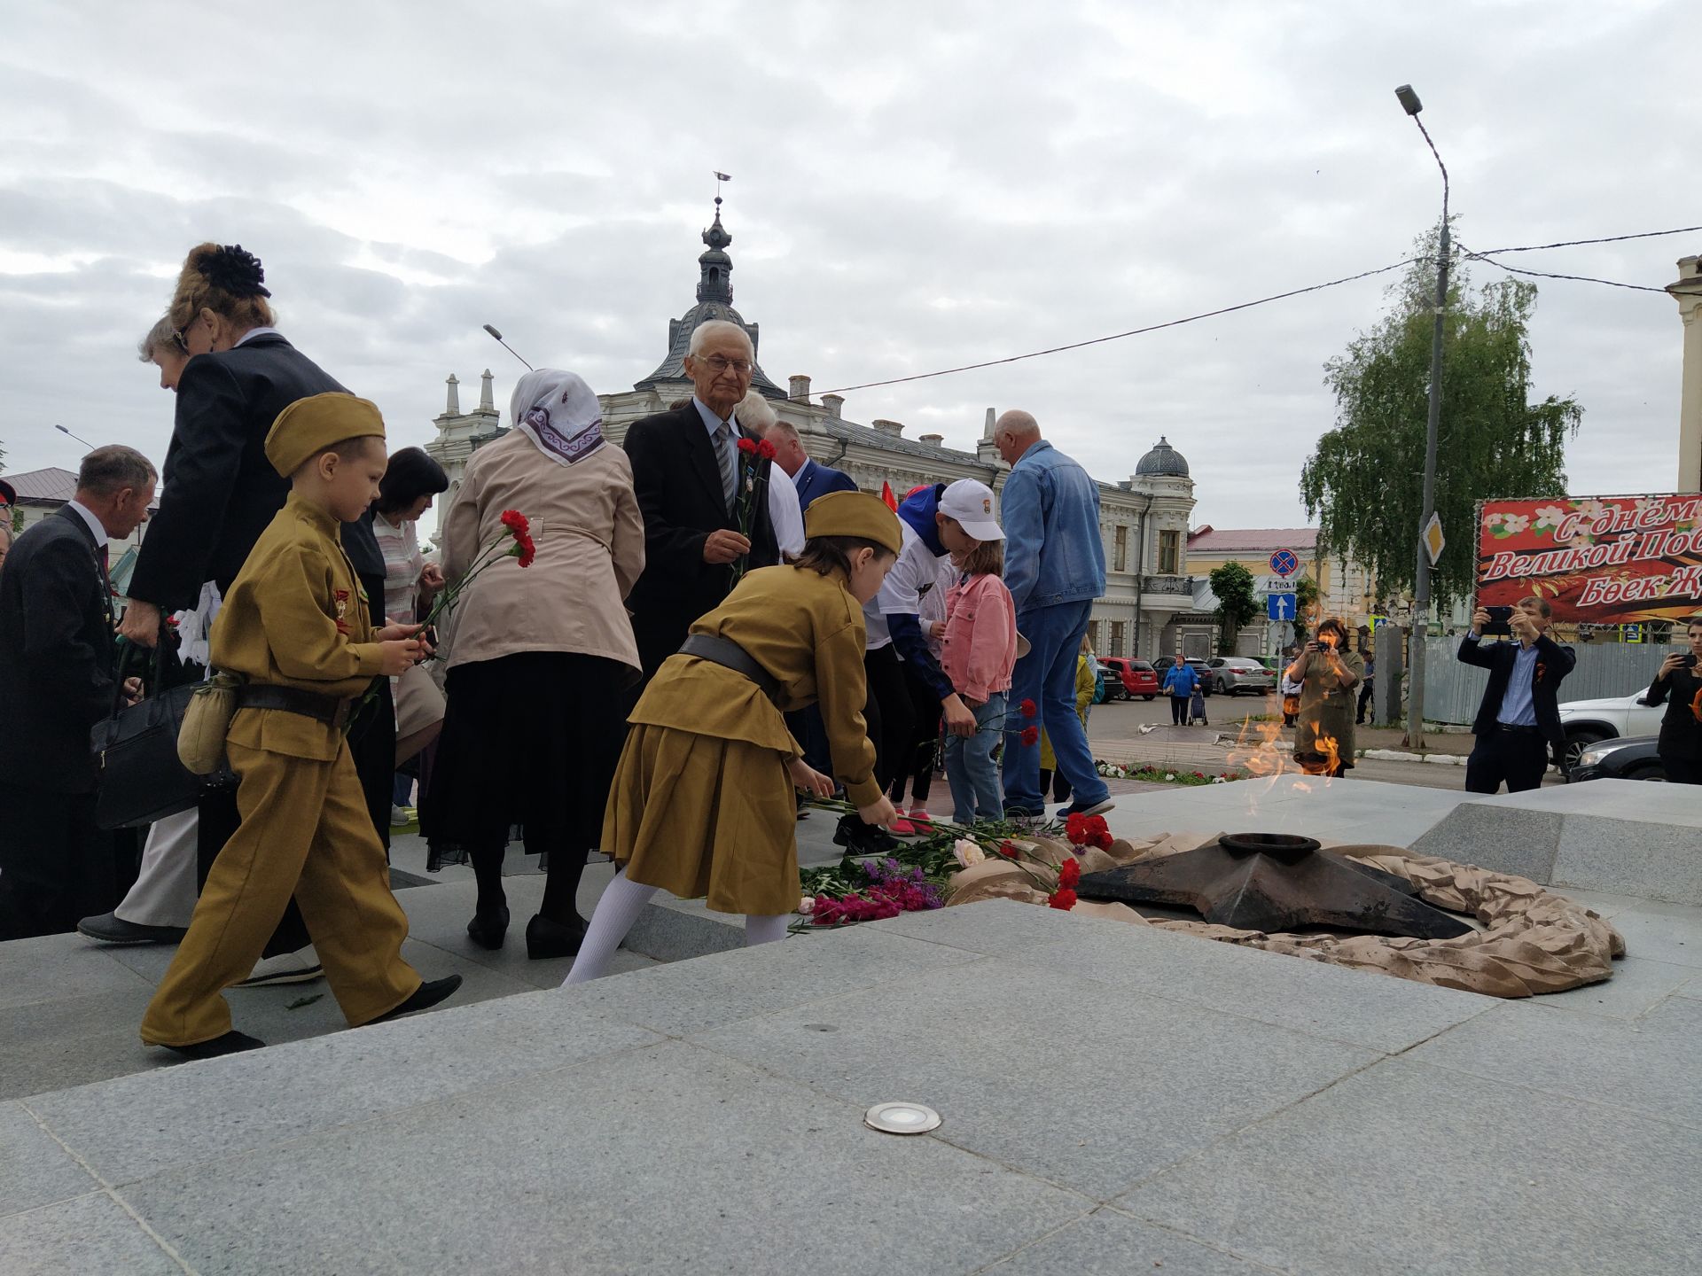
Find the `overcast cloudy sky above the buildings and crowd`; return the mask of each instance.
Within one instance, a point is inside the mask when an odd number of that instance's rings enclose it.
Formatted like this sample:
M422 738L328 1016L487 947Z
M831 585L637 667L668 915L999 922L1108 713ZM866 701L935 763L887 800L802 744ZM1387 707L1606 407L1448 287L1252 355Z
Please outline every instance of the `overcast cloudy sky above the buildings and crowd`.
M136 362L184 252L266 262L289 339L426 442L443 379L528 359L618 391L693 303L713 170L762 367L817 391L1084 340L1387 265L1440 206L1477 248L1702 223L1695 0L1528 3L10 5L0 44L7 471L163 459ZM1525 253L1665 286L1702 235ZM1477 281L1501 277L1476 265ZM1297 526L1322 364L1391 277L1006 367L853 391L972 447L1025 407L1099 478L1157 441L1195 522ZM1539 395L1574 493L1670 490L1661 294L1544 281Z

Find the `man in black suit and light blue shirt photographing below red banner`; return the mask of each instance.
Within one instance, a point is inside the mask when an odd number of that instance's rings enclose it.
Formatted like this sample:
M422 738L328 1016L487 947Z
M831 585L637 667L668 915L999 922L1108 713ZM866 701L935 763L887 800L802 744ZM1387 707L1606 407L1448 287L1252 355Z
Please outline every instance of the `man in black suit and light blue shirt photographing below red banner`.
M1482 607L1474 611L1459 650L1464 664L1489 670L1472 723L1477 743L1465 759L1465 791L1494 793L1506 781L1508 793L1523 793L1542 784L1551 749L1557 764L1566 757L1556 692L1578 657L1549 638L1552 609L1545 599L1520 599L1513 607L1515 641L1481 645L1489 619Z

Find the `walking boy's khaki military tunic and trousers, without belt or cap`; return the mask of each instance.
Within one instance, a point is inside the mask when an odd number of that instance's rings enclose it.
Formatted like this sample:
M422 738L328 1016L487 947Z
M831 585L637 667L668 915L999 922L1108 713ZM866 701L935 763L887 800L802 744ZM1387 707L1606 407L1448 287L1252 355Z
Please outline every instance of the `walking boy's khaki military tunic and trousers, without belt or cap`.
M254 684L364 694L380 672L361 582L337 521L291 493L260 534L213 623L213 665ZM247 978L296 897L351 1024L420 985L402 960L408 922L340 726L284 709L238 709L226 740L242 827L220 851L141 1038L196 1045L230 1031L220 995Z

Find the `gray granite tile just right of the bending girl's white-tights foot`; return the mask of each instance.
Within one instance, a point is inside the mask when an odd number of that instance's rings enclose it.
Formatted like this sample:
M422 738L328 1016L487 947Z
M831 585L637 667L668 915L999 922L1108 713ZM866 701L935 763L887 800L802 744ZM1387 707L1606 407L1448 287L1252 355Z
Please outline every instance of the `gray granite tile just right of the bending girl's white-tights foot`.
M562 994L613 1019L683 1036L975 960L974 953L853 926L592 980Z

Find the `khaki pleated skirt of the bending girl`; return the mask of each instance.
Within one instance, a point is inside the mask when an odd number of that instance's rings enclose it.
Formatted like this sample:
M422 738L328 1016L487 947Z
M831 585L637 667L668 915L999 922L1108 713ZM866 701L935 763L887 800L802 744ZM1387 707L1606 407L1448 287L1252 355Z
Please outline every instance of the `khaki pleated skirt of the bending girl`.
M603 851L631 881L715 912L798 907L797 803L773 749L633 725L603 820Z

